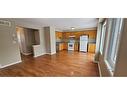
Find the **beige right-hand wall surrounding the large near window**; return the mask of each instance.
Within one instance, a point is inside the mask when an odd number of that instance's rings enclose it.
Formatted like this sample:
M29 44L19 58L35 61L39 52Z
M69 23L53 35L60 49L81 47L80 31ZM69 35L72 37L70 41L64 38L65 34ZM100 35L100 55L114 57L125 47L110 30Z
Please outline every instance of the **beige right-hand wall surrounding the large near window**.
M126 51L127 50L127 19L123 20L123 27L121 30L121 37L120 37L120 45L119 45L117 59L115 63L115 69L113 72L110 71L110 68L106 65L106 62L104 59L106 52L108 51L110 33L112 32L110 30L110 26L108 26L109 23L110 23L110 20L107 19L107 29L106 29L107 32L105 35L103 54L99 52L99 66L101 69L101 75L125 77L127 76L127 51Z

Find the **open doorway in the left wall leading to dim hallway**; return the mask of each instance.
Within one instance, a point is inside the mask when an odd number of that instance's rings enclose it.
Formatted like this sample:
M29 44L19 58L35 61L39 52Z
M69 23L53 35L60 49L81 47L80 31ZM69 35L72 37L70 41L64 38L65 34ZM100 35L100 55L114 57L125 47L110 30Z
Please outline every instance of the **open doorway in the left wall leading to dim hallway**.
M18 26L16 27L16 33L22 60L27 57L33 57L33 46L40 45L39 30Z

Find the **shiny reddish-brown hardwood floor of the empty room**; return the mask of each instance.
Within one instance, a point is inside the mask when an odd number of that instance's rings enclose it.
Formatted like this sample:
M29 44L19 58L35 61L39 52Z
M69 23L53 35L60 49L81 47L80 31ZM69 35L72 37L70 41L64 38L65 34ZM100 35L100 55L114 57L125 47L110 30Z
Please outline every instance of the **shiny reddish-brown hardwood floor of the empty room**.
M94 54L61 51L55 55L38 58L23 57L23 62L0 69L0 76L99 76L98 66L92 60Z

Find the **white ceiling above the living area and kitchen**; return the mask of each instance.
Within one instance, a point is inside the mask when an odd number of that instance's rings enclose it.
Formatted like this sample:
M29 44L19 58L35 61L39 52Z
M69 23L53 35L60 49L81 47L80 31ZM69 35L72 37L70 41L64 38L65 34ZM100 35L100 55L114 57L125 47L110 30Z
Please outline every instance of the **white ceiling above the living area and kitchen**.
M78 29L96 28L98 19L96 18L13 18L16 23L36 24L38 26L54 26L58 31L72 31ZM73 31L74 31L73 30Z

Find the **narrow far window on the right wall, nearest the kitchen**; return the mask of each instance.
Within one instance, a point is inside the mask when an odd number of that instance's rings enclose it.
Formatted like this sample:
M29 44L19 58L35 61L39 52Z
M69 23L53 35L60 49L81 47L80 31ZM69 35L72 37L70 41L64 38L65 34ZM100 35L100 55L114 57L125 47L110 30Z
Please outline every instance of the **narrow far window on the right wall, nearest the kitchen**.
M106 32L106 21L102 24L101 42L100 42L100 52L101 52L101 54L103 53L103 48L104 48L105 32Z

